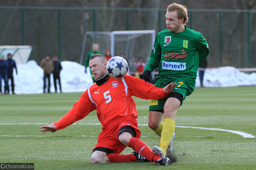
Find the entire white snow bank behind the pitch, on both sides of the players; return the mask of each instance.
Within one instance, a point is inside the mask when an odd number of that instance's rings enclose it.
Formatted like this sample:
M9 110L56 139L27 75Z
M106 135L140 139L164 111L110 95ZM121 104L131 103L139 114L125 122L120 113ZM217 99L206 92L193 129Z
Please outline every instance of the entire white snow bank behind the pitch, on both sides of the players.
M77 62L62 61L61 65L63 67L60 74L63 93L84 92L92 85L93 81L89 68L87 68L87 73L85 73L84 66ZM14 71L16 94L43 93L43 69L34 60L30 60L26 64L17 65L17 69L18 75ZM246 74L229 66L207 69L205 70L203 84L205 87L256 85L256 73ZM4 82L2 82L2 86L4 86ZM199 76L196 80L196 87L200 87ZM57 85L57 89L59 92L59 85ZM55 92L52 75L50 91L52 93Z

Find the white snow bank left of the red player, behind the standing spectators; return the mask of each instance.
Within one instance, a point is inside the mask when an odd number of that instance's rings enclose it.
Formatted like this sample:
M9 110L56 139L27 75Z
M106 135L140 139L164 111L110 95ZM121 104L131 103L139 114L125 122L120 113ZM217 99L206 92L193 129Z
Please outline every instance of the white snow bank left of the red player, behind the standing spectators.
M61 66L63 67L63 70L61 70L60 73L61 89L63 93L83 92L92 85L93 81L90 71L88 70L88 72L85 73L84 66L71 61L61 62ZM43 93L44 71L34 60L30 60L26 64L17 65L17 68L18 75L15 74L15 71L13 75L16 94ZM48 81L46 80L46 84L47 82ZM55 92L52 74L50 91L52 93ZM57 92L59 92L58 82Z

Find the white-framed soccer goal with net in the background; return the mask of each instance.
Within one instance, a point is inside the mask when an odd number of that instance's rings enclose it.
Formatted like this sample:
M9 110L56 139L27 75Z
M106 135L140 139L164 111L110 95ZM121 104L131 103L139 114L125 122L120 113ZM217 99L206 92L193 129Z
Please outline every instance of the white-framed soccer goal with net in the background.
M142 57L146 63L151 54L155 37L155 30L86 32L80 64L84 64L88 52L92 51L92 43L98 43L99 51L103 54L107 49L110 49L111 56L119 56L124 53L127 62L131 56L134 56L136 61L139 57Z

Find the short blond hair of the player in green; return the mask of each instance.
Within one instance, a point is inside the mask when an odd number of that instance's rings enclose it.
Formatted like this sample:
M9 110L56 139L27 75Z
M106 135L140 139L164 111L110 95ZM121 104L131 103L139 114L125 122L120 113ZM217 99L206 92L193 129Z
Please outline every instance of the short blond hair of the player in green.
M178 19L183 18L184 19L183 24L186 25L186 22L188 22L188 17L187 17L187 8L184 5L172 3L166 9L166 12L169 12L169 11L177 11Z

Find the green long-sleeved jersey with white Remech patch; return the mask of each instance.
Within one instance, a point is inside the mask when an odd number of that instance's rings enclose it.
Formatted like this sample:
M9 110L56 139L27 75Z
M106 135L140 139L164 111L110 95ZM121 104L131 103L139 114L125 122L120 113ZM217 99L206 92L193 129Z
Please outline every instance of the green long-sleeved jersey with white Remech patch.
M208 44L201 33L187 27L179 33L169 32L166 28L156 35L144 70L152 72L159 67L155 86L178 80L187 85L188 96L194 91L198 67L208 54Z

